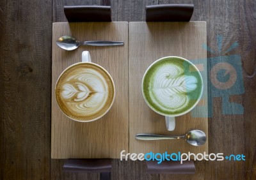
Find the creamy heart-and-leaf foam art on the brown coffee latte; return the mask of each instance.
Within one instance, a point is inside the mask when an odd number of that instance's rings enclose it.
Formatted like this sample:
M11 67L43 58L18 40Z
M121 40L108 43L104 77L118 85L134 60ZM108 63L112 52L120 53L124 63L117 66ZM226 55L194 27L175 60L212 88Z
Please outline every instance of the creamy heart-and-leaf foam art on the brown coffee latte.
M86 68L70 76L63 84L61 97L67 107L88 116L97 113L108 99L108 83L99 72Z

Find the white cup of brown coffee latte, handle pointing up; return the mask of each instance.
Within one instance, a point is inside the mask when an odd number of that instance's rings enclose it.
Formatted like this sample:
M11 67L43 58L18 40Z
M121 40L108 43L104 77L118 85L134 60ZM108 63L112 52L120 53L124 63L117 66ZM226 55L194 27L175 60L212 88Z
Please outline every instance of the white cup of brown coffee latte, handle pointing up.
M115 84L102 66L82 53L82 62L65 69L58 78L55 95L61 111L70 119L90 122L104 116L113 105Z

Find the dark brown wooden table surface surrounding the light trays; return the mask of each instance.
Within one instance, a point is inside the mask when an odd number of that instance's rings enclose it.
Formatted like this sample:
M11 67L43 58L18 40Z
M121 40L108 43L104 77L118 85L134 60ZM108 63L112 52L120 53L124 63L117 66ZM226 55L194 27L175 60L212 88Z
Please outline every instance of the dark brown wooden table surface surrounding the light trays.
M97 179L99 174L63 173L63 160L51 160L52 22L65 22L64 5L109 5L113 21L144 21L145 6L161 0L0 1L0 178ZM207 22L208 57L241 58L229 101L233 115L221 111L222 96L212 95L209 152L245 154L246 161L196 161L194 175L147 174L145 162L113 160L112 179L256 179L256 3L251 0L194 3L191 20ZM220 43L222 37L222 43ZM226 52L235 43L236 48ZM218 46L219 45L219 46ZM221 52L218 52L220 47ZM232 60L232 59L231 59ZM211 65L213 61L209 61ZM232 62L230 62L232 64ZM236 89L235 89L236 90ZM236 113L237 112L237 113ZM238 114L238 115L237 115Z

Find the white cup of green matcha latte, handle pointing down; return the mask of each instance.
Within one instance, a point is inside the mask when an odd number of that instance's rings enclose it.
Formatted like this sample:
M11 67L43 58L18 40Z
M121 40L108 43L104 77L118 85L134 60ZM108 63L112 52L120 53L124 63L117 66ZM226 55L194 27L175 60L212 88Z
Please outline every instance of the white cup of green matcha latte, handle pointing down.
M147 105L165 116L166 128L175 129L175 117L192 110L203 93L203 80L196 66L177 56L158 59L143 76L142 93Z

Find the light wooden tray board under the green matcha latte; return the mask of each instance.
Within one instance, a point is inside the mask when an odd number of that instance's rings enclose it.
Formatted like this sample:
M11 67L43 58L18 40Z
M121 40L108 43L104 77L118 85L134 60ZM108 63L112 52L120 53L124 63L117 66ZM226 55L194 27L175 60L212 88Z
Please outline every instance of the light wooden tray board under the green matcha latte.
M191 129L199 129L208 137L207 114L207 59L205 22L130 22L129 23L129 148L130 153L204 153L208 143L195 147L184 140L142 141L137 133L183 135ZM195 114L177 117L174 131L167 131L164 116L153 112L141 93L141 81L145 70L154 61L165 56L180 56L192 63L204 64L201 71L204 81L202 99L205 106L197 105ZM196 59L203 59L197 61Z

